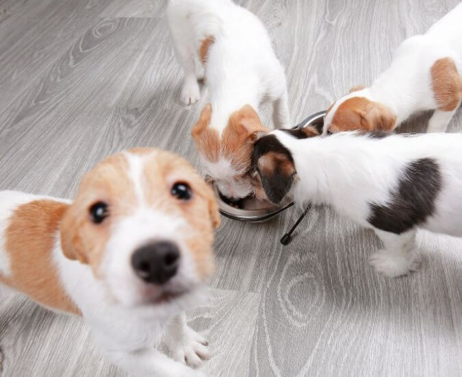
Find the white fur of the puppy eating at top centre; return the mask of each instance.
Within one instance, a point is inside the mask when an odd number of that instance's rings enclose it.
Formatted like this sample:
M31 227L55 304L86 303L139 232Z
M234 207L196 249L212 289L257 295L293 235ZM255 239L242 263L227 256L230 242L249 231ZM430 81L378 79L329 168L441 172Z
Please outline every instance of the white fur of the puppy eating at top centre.
M221 135L233 112L246 104L257 111L261 101L272 102L274 127L290 127L284 70L257 16L230 0L170 0L167 16L185 72L181 98L185 104L198 101L197 80L205 77L212 106L210 127ZM214 43L204 71L198 51L208 36L214 37ZM205 170L212 174L216 172L213 165L204 160ZM234 180L236 174L232 171L220 178L222 193L246 197L253 187L248 180Z

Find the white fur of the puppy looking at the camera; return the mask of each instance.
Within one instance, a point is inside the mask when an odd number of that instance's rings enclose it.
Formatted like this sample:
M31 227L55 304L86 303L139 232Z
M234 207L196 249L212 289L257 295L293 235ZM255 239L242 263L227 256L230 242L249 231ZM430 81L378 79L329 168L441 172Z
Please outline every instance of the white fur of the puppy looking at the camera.
M199 366L210 356L205 339L188 327L184 315L185 309L205 299L203 284L184 241L190 229L183 219L166 213L161 202L154 206L144 204L141 185L143 157L126 156L140 200L129 215L112 227L99 271L101 276L96 278L90 265L64 256L59 232L55 235L52 263L57 267L66 293L90 326L101 353L114 364L132 376L203 376L184 365ZM43 198L0 191L2 229L8 226L8 218L18 205ZM177 273L162 288L144 284L136 278L130 264L131 254L137 247L156 239L175 242L181 252ZM8 273L8 254L3 248L0 263L0 273ZM183 294L168 302L149 304L166 290ZM164 332L165 342L176 361L155 349Z

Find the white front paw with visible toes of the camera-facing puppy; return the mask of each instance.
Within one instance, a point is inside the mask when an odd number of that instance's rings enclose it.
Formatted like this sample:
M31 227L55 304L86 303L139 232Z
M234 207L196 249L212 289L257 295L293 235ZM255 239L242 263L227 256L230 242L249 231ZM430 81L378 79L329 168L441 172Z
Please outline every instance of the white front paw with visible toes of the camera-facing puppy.
M191 367L199 367L211 357L207 339L188 326L184 313L170 321L164 342L175 361Z

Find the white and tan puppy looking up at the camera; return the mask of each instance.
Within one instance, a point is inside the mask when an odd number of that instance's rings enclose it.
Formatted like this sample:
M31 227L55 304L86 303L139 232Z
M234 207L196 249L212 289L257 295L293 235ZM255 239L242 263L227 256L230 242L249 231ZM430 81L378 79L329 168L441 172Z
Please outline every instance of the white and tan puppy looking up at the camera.
M183 158L131 149L103 160L73 202L0 191L0 282L84 317L133 376L199 376L207 343L183 311L214 271L214 195ZM164 341L169 358L155 349Z

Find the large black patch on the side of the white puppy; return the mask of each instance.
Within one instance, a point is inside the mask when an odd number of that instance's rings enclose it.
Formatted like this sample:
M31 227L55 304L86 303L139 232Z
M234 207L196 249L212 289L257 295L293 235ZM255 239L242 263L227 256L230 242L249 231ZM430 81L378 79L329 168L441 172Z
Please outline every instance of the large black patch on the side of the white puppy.
M424 223L435 211L435 199L441 191L441 171L431 158L411 162L403 171L398 190L387 206L369 204L368 222L375 228L401 234Z

